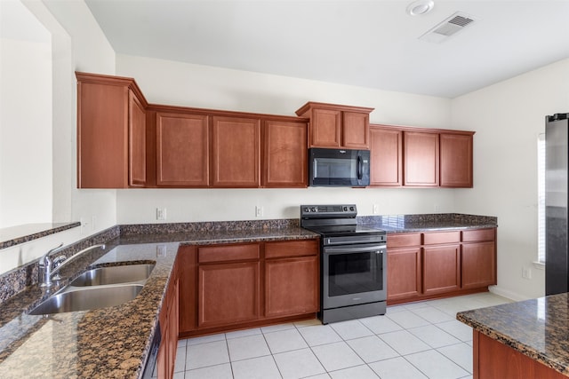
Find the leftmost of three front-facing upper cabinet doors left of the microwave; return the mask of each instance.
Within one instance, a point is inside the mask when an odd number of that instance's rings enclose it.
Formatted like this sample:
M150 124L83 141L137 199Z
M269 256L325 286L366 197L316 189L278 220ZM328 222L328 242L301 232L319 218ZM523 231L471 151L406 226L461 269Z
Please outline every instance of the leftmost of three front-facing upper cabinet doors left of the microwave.
M209 184L208 116L156 114L156 185Z

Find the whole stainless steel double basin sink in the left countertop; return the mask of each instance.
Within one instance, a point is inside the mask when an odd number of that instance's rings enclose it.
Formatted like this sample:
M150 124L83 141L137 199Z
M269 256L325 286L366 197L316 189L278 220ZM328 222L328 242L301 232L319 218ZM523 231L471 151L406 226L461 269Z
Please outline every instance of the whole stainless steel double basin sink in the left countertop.
M83 272L29 314L89 311L126 303L144 287L155 265L116 265Z

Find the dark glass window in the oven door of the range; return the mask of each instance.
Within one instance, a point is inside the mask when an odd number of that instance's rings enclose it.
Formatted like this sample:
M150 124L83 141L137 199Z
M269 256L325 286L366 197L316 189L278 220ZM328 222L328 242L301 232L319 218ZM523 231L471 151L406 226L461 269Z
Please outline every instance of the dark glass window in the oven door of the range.
M328 296L343 296L383 289L382 254L373 252L330 255Z

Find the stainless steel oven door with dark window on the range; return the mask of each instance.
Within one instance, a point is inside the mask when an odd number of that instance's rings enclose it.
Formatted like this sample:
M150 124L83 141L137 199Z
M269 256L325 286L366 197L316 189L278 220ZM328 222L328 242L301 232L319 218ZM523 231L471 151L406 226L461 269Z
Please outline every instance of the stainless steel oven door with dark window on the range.
M387 299L385 244L325 246L322 263L324 309Z

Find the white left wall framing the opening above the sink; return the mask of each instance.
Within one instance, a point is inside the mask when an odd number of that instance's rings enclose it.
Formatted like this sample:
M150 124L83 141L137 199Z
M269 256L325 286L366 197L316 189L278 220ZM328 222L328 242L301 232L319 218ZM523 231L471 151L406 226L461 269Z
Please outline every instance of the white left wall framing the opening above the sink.
M0 273L40 257L60 242L69 244L116 225L116 191L76 189L75 78L76 70L115 74L115 51L83 1L21 0L21 3L52 34L53 128L51 138L44 140L44 146L52 150L52 162L49 162L52 169L48 170L46 179L52 180L51 220L82 221L85 226L0 250ZM12 54L20 52L12 51ZM4 78L2 87L4 91ZM29 102L27 106L29 111ZM31 155L27 146L19 147ZM15 162L17 157L11 159ZM23 192L28 184L17 186Z

